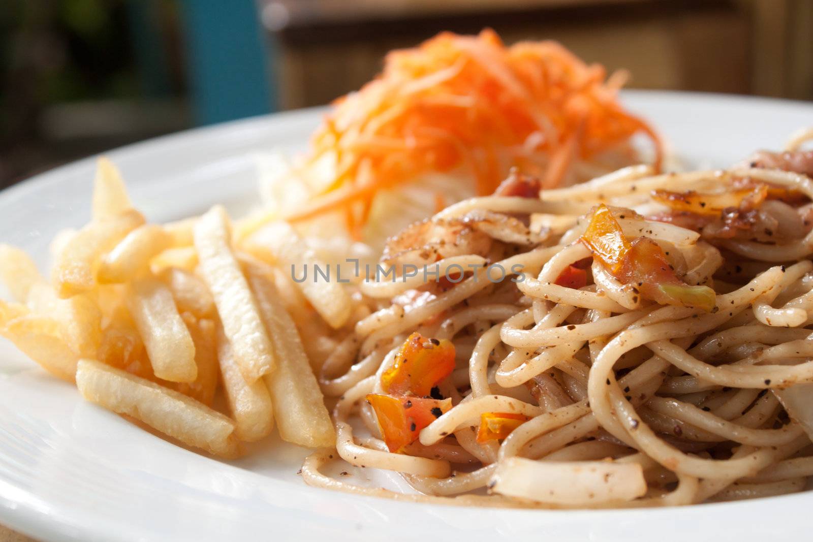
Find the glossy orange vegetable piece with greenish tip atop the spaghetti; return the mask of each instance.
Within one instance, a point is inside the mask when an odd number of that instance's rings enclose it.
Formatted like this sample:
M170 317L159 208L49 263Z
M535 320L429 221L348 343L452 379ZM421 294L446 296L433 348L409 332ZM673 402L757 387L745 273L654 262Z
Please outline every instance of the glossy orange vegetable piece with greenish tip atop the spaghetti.
M663 249L650 238L628 241L606 206L595 210L581 241L616 279L622 284L634 284L643 297L663 305L714 309L714 290L680 280Z

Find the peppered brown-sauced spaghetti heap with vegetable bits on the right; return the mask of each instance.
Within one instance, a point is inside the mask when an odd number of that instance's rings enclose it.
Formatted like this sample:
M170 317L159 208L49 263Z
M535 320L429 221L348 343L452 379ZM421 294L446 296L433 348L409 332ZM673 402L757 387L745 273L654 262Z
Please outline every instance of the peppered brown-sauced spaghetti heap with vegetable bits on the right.
M400 256L388 262L401 272L480 264L454 282L362 282L367 310L322 366L341 461L401 473L415 493L333 479L320 470L327 451L307 458L305 481L549 508L802 490L813 475L813 183L789 169L628 167L516 205L476 197L429 219L451 237L419 240L437 250L428 262L393 237ZM727 205L708 212L706 199ZM484 210L538 238L505 241L507 223L483 233L472 216ZM464 239L455 220L489 242ZM489 280L495 269L505 278ZM438 373L447 344L456 362ZM420 393L391 384L420 378ZM421 401L437 405L428 418Z

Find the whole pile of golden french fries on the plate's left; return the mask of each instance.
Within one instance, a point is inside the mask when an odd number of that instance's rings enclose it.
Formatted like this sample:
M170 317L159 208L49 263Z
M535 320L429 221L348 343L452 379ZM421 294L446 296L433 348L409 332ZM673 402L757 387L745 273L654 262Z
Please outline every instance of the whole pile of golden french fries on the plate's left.
M341 284L280 280L281 269L319 264L287 224L238 242L220 206L146 223L100 158L92 219L60 232L51 252L48 280L0 245L0 280L14 298L0 301L0 335L85 399L218 457L238 457L275 421L283 440L335 445L286 299L328 329L346 325L351 301Z

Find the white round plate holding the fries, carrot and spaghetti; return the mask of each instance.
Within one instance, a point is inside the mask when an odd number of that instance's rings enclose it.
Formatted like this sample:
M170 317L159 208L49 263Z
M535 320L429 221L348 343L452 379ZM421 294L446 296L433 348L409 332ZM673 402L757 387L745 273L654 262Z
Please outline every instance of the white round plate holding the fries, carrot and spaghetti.
M813 125L813 106L689 93L624 94L687 162L724 166ZM204 128L110 153L139 208L176 219L251 202L254 153L301 150L320 111ZM59 228L89 219L93 161L0 193L0 242L43 268ZM779 540L809 538L813 493L683 509L546 511L415 505L308 488L305 450L259 446L227 464L82 401L0 344L0 522L41 540ZM424 538L430 537L430 538Z

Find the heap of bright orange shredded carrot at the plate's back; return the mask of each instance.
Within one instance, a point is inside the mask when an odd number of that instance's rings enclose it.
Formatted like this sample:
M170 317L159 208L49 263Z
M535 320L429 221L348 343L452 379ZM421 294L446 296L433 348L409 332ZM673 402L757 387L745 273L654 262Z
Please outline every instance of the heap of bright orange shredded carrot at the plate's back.
M619 147L636 132L653 141L658 167L657 135L618 102L623 80L607 80L604 67L554 41L506 47L492 30L441 33L395 50L384 72L339 98L315 132L304 167L328 158L336 178L289 219L344 210L352 232L380 189L461 166L472 171L480 195L493 193L512 166L554 187L574 159ZM530 158L540 155L541 171Z

